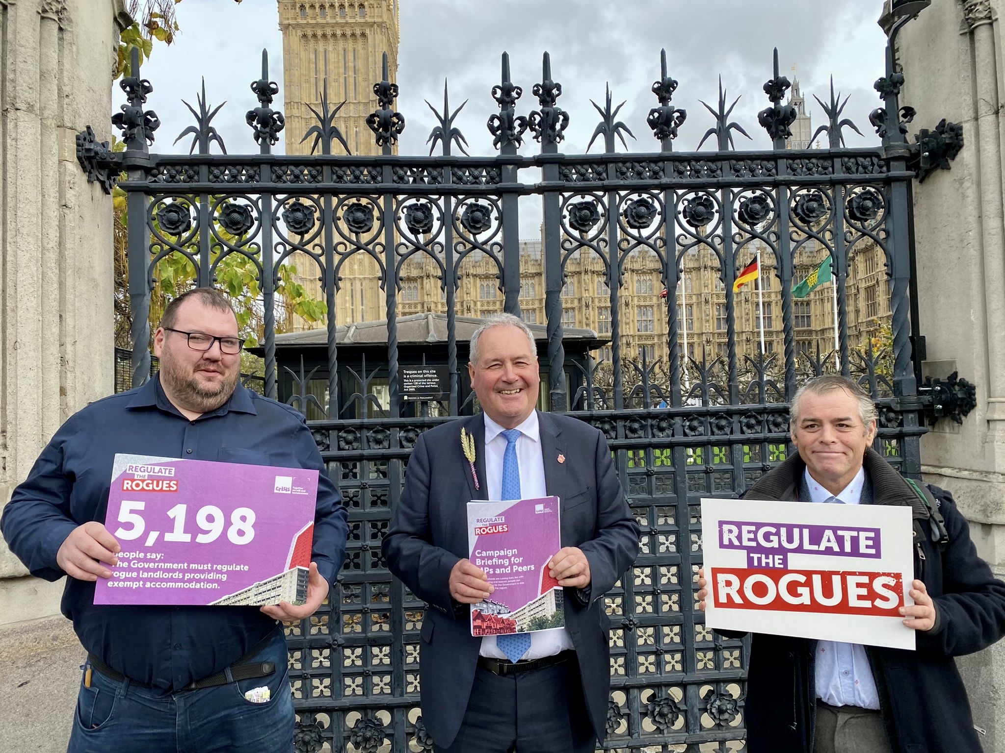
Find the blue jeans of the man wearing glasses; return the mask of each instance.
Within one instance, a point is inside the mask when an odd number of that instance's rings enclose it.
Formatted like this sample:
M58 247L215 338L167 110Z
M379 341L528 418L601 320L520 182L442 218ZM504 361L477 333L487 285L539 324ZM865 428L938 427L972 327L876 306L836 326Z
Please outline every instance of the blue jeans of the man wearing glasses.
M67 753L290 753L293 700L281 633L251 661L274 662L268 677L215 688L156 691L96 670L77 696ZM267 703L244 694L268 686Z

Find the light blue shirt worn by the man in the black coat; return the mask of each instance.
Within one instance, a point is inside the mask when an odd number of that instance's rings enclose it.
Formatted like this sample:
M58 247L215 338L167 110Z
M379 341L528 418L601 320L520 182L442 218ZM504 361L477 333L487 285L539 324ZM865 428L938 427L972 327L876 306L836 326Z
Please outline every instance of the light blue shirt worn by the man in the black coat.
M806 486L811 502L830 502L857 505L865 485L865 470L858 469L855 478L837 495L820 486L806 469ZM879 709L876 692L865 647L860 644L841 644L834 641L817 641L816 648L817 698L831 706L857 706L862 709Z

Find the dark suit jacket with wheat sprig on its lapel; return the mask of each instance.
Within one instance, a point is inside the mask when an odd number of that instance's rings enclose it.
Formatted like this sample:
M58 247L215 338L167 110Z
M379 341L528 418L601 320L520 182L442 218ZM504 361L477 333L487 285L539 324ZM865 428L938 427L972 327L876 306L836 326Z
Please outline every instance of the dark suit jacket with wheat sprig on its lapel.
M590 722L603 740L610 692L603 595L635 561L638 526L603 435L568 416L539 412L538 419L546 488L561 500L562 546L578 546L590 563L590 587L566 589L566 628L576 647ZM474 437L478 490L461 451L462 427ZM430 606L419 657L422 717L443 747L460 729L481 645L471 637L467 604L450 597L448 581L454 564L468 556L466 503L486 498L484 436L478 414L419 438L383 544L391 572Z

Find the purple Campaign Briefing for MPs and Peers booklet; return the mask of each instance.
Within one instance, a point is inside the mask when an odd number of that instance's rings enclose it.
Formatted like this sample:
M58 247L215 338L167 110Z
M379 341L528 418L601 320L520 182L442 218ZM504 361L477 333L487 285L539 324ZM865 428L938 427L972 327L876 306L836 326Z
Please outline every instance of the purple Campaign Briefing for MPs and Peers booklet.
M564 592L548 574L561 531L558 497L468 502L470 560L495 588L471 604L472 636L565 626Z

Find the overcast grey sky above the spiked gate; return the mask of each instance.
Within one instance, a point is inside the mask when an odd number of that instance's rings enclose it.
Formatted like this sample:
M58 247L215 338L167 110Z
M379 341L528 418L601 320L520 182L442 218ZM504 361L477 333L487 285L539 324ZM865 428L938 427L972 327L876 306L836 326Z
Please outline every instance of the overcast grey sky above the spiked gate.
M563 87L559 105L571 118L560 145L566 154L585 151L599 119L590 100L603 106L605 83L610 83L615 105L625 100L618 117L637 139L628 139L629 149L658 151L645 116L657 104L650 86L659 77L660 48L666 49L669 73L679 82L673 104L687 110L675 151L695 149L715 124L699 100L717 106L720 75L727 104L741 97L732 119L753 137L747 141L737 135L737 149L770 147L757 112L769 104L761 87L771 77L776 46L782 73L799 80L814 130L824 115L812 95L827 101L833 74L835 90L850 94L844 116L864 134L860 138L846 130L848 146L878 142L867 115L879 105L872 82L883 72L885 38L876 24L880 0L400 0L400 4L396 80L397 109L406 120L402 155L428 154L426 139L436 123L423 100L442 106L444 77L449 79L452 107L468 99L454 123L466 137L468 152L493 154L485 121L497 111L490 90L499 81L504 50L510 53L513 80L524 87L518 114L538 106L531 89L541 80L542 53L551 53L553 78ZM227 100L213 121L227 152L257 153L244 113L257 104L249 84L259 75L262 48L269 53L270 78L282 85L276 3L185 0L177 13L182 31L176 42L170 47L157 45L143 68L154 86L147 106L162 120L152 151L188 152L188 138L172 145L193 122L181 99L197 107L196 92L205 76L210 104ZM117 85L114 110L123 101ZM281 90L274 106L282 107ZM712 142L702 151L714 149ZM275 151L282 147L280 140ZM521 153L533 155L538 149L528 138ZM594 144L591 151L602 148ZM618 151L624 151L620 143ZM522 231L526 235L528 228Z

